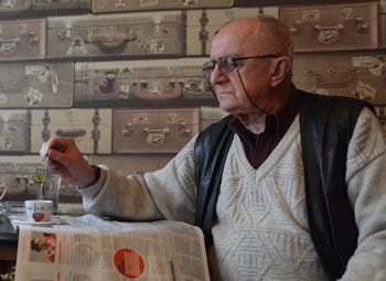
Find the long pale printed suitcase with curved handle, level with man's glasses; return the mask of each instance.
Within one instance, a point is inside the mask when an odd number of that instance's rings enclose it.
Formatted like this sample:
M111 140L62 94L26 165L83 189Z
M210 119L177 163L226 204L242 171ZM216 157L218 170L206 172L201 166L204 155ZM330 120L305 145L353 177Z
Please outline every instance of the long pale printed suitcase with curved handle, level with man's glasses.
M217 104L203 76L207 58L75 64L78 107L160 107Z

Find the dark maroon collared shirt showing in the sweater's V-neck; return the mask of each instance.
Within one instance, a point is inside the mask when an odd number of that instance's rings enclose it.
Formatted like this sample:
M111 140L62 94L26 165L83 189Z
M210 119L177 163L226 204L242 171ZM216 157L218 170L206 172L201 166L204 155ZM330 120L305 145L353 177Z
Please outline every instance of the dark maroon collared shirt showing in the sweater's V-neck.
M230 119L229 127L240 138L244 152L249 163L255 169L258 169L270 155L286 134L298 112L299 95L298 91L293 89L287 102L277 114L266 116L265 131L259 134L248 131L236 117Z

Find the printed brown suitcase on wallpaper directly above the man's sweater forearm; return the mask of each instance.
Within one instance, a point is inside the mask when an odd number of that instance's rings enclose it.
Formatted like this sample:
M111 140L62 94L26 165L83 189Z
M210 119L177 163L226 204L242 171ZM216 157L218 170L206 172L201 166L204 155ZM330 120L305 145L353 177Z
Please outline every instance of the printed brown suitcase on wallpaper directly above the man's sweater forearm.
M115 153L175 153L199 133L200 111L184 109L116 109Z

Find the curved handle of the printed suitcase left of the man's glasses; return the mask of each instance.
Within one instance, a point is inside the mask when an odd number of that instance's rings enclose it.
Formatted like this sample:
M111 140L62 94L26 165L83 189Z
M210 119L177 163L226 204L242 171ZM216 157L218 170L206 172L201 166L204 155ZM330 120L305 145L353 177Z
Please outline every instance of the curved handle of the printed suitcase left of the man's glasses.
M169 101L178 99L182 96L181 83L170 80L169 85L172 87L171 91L164 91L161 83L146 80L135 82L135 95L137 98L147 101Z

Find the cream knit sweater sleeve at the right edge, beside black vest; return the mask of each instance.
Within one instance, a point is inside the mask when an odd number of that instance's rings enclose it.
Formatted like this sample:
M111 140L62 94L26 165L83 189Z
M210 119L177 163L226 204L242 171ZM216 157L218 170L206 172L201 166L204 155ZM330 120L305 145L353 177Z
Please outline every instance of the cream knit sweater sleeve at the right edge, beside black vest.
M386 137L367 108L349 145L346 183L360 236L341 280L386 280Z

